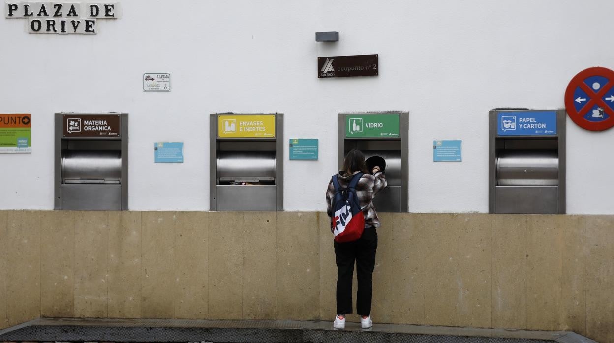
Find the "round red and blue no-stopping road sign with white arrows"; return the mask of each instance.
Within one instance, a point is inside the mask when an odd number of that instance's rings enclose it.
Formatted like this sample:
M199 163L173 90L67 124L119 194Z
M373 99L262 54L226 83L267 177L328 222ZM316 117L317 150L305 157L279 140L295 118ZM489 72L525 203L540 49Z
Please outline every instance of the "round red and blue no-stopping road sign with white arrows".
M567 86L565 107L581 128L602 131L614 126L614 71L592 67L579 72Z

